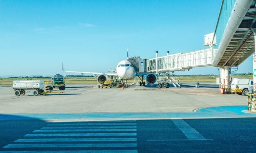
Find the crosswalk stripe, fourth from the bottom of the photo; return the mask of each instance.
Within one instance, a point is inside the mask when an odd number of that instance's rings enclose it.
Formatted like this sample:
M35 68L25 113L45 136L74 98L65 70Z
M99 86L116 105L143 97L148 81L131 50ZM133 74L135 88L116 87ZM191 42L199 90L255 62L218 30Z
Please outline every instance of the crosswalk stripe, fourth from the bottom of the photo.
M66 137L66 136L137 136L137 133L53 133L26 134L24 137Z

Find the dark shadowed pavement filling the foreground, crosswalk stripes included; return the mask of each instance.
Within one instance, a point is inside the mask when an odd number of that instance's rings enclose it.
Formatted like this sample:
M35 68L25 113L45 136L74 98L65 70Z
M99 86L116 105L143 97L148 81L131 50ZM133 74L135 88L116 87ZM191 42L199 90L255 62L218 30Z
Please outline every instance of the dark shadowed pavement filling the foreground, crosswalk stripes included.
M45 122L0 114L0 151L253 152L255 127L256 118Z

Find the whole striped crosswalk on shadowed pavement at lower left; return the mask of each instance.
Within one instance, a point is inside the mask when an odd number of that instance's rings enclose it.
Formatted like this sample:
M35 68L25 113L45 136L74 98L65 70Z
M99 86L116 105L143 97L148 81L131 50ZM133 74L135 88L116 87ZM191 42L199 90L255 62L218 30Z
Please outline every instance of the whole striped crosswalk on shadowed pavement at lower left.
M24 138L15 140L12 144L7 144L3 149L8 150L0 151L0 153L137 153L136 132L136 121L50 123L46 127L33 131L33 133L26 134ZM20 151L19 148L29 149L24 152ZM51 151L51 148L58 148L60 151L56 149ZM64 148L69 149L64 150ZM71 151L72 148L78 148L78 150ZM89 150L84 150L86 148ZM10 151L10 149L13 150Z

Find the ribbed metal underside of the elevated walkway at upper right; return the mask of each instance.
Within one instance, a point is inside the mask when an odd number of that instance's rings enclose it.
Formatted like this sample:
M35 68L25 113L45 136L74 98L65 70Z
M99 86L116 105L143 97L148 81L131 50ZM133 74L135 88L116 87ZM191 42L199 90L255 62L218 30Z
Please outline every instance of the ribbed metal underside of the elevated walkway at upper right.
M214 66L217 66L217 67L238 66L240 63L242 63L254 52L254 32L252 31L252 28L256 28L255 4L256 4L256 1L254 0L251 3L249 9L247 9L248 11L243 17L243 20L238 26L238 28L234 29L235 33L233 37L231 37L231 40L228 43L227 47L224 50L221 50L221 49L218 50L217 54L219 55L216 56L215 63L213 63ZM236 13L236 10L235 10L236 5L237 5L237 2L235 3L235 6L233 8L234 11L232 11L232 13ZM239 16L238 14L236 15ZM232 19L229 18L229 20L232 20ZM230 28L230 27L228 27L227 25L225 28ZM227 29L225 29L225 31L227 31ZM223 35L225 35L225 31ZM225 38L222 38L222 39L225 39ZM221 40L221 41L224 42L225 40ZM220 44L223 42L220 42Z

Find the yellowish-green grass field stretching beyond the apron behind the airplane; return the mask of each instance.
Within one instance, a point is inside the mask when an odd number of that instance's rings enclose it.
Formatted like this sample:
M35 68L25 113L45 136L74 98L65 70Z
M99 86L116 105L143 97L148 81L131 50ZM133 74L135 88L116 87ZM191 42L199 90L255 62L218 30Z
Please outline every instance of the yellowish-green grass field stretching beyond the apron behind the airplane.
M216 81L216 77L220 77L219 75L214 76L175 76L178 79L180 79L180 82L214 82ZM252 75L232 75L234 78L248 78L252 79ZM51 78L0 78L0 85L11 85L13 80L43 80L51 83ZM96 77L73 77L73 78L66 78L66 84L71 83L97 83ZM136 78L136 81L139 81L138 78ZM129 80L129 83L133 83L134 80Z

